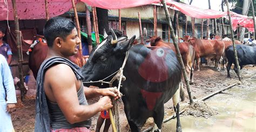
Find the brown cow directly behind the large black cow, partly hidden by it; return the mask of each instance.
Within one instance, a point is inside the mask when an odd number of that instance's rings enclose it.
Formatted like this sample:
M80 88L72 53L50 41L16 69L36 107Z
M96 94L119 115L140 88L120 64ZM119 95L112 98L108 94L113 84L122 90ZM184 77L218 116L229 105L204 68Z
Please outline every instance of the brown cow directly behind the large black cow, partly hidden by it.
M173 45L173 43L165 42L163 39L160 38L160 36L150 36L149 40L146 40L146 42L150 42L151 46L164 46L164 47L169 47L173 50L174 53L176 53L176 49ZM187 72L187 76L190 75L190 84L194 83L193 80L193 63L194 63L194 47L190 45L187 42L180 42L178 43L179 45L179 50L180 54L183 60L183 63L185 65L185 69Z

